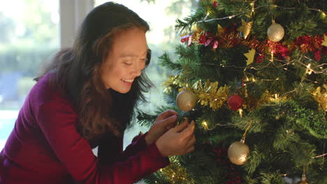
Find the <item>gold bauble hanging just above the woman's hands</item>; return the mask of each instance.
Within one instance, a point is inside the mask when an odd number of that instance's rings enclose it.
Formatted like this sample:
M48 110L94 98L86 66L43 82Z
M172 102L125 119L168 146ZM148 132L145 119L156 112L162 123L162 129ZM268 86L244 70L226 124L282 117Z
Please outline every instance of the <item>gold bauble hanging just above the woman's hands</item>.
M191 91L183 90L176 97L177 107L183 112L189 112L196 105L196 95Z

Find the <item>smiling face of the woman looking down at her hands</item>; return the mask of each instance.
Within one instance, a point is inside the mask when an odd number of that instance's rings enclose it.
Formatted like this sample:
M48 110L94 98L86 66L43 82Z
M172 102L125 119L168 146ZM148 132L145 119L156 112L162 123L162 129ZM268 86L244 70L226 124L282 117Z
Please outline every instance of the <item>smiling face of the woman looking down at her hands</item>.
M110 52L101 66L101 80L106 89L127 93L133 80L141 75L147 58L147 40L143 29L117 33Z

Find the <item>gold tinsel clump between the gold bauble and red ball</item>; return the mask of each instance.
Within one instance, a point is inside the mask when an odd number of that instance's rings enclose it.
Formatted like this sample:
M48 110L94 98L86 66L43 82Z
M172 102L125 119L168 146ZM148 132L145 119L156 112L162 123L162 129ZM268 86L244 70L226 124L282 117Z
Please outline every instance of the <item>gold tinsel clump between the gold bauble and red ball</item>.
M214 111L224 105L229 93L228 86L219 87L218 82L210 82L209 80L207 80L204 85L201 80L198 80L194 83L193 89L201 105L209 105Z

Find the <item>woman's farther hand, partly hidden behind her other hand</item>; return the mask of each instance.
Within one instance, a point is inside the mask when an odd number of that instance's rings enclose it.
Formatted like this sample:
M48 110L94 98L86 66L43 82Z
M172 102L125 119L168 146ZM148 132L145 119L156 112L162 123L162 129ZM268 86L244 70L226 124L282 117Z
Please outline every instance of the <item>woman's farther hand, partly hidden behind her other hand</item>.
M161 135L170 130L170 128L173 128L176 125L176 120L177 112L173 110L167 110L159 114L156 121L154 121L154 124L147 132L147 135L145 135L145 142L147 145L157 141Z

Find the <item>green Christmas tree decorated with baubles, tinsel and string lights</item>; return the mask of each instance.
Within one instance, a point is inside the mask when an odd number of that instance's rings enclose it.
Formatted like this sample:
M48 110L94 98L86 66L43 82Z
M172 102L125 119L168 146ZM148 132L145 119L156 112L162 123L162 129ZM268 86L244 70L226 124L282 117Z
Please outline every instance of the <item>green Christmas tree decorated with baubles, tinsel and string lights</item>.
M196 150L147 183L327 183L324 1L203 0L175 28L167 105ZM140 112L150 125L154 114Z

